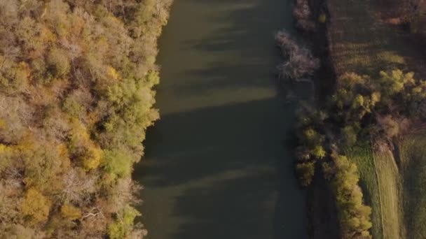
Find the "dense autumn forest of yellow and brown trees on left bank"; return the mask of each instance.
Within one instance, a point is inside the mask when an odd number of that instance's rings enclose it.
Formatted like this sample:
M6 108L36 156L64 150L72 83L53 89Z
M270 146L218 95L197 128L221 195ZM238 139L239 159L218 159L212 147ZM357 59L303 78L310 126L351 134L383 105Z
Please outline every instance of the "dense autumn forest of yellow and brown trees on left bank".
M130 176L171 1L0 1L0 238L146 234Z

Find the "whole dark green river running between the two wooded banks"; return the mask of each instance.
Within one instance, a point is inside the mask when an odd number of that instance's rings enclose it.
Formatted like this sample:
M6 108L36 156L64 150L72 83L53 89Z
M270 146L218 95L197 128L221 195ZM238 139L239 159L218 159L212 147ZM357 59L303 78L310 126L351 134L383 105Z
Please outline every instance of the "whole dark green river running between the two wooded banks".
M305 198L286 146L294 124L273 75L291 0L176 0L146 156L148 239L305 238Z

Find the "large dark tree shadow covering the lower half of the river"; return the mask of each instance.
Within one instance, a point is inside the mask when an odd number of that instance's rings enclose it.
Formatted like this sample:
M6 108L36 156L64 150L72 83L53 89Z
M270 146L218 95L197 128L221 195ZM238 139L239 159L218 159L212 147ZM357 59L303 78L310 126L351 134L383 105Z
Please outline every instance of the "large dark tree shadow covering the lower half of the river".
M267 99L166 115L149 130L135 180L146 187L146 225L162 235L153 238L301 238L303 198L283 144L292 120L274 112L282 107L294 110ZM159 232L167 220L179 224L171 235Z

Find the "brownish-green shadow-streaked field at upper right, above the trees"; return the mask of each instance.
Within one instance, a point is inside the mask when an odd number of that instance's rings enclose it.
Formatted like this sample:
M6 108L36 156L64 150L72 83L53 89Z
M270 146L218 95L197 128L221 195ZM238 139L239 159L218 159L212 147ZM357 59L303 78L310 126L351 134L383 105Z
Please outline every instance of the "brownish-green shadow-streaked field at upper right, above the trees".
M413 48L408 33L380 20L378 13L383 8L375 3L328 1L329 48L337 75L355 72L375 76L393 68L422 72L425 60L421 51Z

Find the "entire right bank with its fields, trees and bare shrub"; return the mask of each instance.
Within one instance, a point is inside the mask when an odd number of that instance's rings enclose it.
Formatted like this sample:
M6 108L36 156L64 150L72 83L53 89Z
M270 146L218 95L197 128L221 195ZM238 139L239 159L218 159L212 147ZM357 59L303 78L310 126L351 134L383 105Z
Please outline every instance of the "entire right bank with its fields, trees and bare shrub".
M315 84L316 100L301 103L296 129L312 238L425 235L425 172L414 166L425 155L424 6L298 0L296 27L312 40L312 53L277 35L280 75Z

